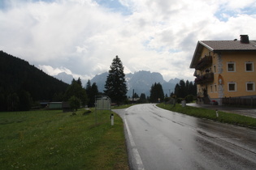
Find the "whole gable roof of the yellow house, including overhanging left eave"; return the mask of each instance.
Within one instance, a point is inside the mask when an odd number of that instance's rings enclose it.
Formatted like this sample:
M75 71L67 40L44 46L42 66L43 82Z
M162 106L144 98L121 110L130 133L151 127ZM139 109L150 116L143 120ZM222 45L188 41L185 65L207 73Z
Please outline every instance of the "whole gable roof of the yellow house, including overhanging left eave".
M248 44L241 43L240 40L199 40L193 53L190 68L195 68L197 61L202 55L202 49L206 47L214 53L223 51L255 51L256 40L249 40Z

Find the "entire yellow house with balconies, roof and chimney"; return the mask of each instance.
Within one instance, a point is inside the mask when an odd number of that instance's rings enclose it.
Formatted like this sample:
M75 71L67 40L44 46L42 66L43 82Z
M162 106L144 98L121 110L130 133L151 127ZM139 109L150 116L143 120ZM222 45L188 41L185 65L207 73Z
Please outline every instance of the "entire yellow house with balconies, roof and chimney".
M222 104L224 97L256 97L256 40L197 42L190 68L195 69L197 99Z

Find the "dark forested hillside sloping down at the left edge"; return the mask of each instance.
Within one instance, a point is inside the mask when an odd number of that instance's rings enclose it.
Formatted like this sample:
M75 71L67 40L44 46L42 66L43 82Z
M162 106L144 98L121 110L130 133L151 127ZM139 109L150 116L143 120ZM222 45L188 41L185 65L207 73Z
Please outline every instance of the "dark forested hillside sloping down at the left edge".
M40 100L62 100L67 83L0 51L0 111L26 110Z

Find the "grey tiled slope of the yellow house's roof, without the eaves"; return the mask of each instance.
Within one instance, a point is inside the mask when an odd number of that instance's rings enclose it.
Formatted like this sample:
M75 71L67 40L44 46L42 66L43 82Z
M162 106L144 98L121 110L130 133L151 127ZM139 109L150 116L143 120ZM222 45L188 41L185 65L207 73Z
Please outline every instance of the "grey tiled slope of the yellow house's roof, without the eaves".
M249 44L240 40L201 40L199 43L212 51L256 50L256 40L249 40Z

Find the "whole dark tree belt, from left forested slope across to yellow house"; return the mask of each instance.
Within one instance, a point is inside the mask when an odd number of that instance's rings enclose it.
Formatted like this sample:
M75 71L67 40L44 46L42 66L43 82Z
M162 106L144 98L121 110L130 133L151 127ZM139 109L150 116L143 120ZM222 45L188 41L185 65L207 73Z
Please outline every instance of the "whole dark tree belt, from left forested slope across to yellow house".
M82 87L81 79L73 79L68 85L59 79L29 65L28 62L13 57L0 51L0 111L28 110L32 107L40 107L40 101L58 102L69 101L72 108L80 105L94 107L95 96L106 95L111 98L112 103L127 104L128 97L124 66L120 58L116 56L110 66L106 79L104 93L99 93L96 83L90 80ZM180 80L176 84L171 96L186 98L196 96L196 85L188 80ZM164 98L163 87L160 83L154 83L150 89L150 96L135 93L132 98L140 98L138 103L158 102Z

